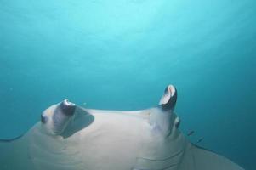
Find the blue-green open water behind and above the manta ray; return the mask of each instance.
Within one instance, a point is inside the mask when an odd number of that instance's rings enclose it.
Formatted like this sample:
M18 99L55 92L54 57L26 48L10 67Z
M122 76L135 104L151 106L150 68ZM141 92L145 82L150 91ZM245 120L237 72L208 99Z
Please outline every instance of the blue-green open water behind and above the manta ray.
M0 1L2 139L62 99L137 110L169 83L191 141L255 169L256 1Z

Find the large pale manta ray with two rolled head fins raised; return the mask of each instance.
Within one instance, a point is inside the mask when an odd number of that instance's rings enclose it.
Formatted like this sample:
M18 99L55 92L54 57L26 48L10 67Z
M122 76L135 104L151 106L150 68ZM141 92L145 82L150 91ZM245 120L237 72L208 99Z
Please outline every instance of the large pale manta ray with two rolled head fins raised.
M52 105L24 135L0 140L1 170L242 170L179 131L177 90L140 111Z

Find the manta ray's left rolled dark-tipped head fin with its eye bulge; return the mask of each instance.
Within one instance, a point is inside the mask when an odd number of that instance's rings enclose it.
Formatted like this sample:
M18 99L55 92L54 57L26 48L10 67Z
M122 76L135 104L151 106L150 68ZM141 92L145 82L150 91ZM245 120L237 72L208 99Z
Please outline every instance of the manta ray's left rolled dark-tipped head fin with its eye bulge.
M52 105L41 115L41 124L48 133L59 135L71 122L75 115L76 105L67 99L57 105Z

